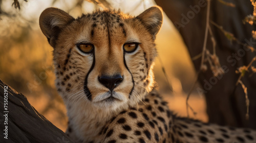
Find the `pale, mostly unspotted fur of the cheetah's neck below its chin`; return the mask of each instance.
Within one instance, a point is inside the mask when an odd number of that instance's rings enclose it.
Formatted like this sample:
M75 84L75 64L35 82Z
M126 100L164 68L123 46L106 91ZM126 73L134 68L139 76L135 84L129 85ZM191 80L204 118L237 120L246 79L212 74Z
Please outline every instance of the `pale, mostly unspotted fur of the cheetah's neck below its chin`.
M69 117L69 127L66 133L72 137L75 136L76 138L72 139L77 142L79 142L79 140L90 142L92 139L95 141L95 138L97 138L106 122L110 121L111 118L121 111L135 106L127 104L126 106L117 108L115 111L111 111L102 110L96 108L91 103L85 104L84 102L67 103L66 105L68 107ZM84 137L86 137L87 140L84 140ZM100 137L98 138L101 140Z

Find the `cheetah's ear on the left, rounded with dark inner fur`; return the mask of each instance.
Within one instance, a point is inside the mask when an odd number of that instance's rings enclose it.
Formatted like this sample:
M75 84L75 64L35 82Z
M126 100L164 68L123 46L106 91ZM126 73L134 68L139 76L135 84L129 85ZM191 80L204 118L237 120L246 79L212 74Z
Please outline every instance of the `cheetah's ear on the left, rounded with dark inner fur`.
M65 11L57 8L47 8L40 15L39 26L51 46L55 47L61 29L65 28L73 20L75 19Z

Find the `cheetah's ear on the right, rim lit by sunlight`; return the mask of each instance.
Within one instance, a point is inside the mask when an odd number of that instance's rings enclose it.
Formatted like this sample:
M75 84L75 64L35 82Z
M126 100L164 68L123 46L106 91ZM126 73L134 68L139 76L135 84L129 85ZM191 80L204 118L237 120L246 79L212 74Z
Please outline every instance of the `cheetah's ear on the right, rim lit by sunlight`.
M163 23L162 8L159 6L151 7L136 18L139 18L142 21L147 30L150 31L155 38Z

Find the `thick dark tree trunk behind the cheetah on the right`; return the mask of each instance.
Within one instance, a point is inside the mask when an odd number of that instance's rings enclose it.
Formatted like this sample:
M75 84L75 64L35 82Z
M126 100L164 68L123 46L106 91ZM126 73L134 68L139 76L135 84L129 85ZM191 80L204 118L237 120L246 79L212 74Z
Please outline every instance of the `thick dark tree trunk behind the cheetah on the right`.
M206 1L204 0L155 0L157 5L173 21L187 46L190 57L193 58L203 49L206 26ZM229 2L229 1L227 1ZM251 31L255 25L243 24L242 20L252 14L253 7L249 0L231 1L236 7L223 5L217 0L210 1L210 20L232 33L242 43L255 47L255 40L251 38ZM186 18L185 18L186 17ZM249 76L247 72L242 82L248 88L249 120L246 120L245 93L242 86L236 86L239 74L238 67L248 65L255 52L252 53L243 45L230 41L223 32L210 23L210 28L216 39L216 54L220 64L225 68L222 77L216 78L207 64L207 71L200 72L198 81L206 91L207 114L209 122L220 125L246 127L256 129L256 75ZM252 41L252 42L250 42ZM206 48L212 53L212 42L208 35ZM201 58L193 61L196 71L200 69ZM255 66L255 63L252 65ZM199 89L198 89L199 90Z

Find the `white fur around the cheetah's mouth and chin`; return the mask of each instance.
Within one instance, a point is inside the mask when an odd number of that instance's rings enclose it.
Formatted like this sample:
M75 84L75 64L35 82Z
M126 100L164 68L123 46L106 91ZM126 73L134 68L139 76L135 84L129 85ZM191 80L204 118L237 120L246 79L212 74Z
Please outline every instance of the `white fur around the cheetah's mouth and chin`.
M114 91L112 96L113 99L109 99L111 97L110 92L99 94L92 100L92 103L96 107L115 110L127 102L127 98L125 98L123 93Z

